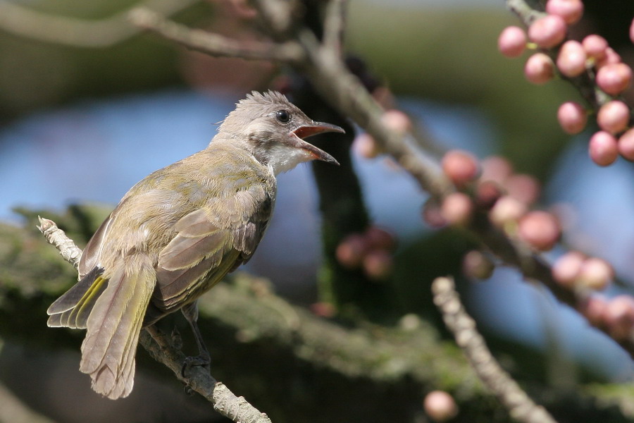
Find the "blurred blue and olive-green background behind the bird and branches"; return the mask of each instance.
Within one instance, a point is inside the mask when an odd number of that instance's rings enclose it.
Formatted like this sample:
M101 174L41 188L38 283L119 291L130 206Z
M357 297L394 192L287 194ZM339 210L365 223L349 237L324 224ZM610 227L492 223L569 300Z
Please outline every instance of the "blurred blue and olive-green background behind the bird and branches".
M86 20L116 15L133 4L14 3ZM259 37L240 1L190 3L174 18L237 39ZM578 30L603 35L632 65L634 49L626 28L634 3L625 3L585 1L586 15ZM366 61L396 96L399 109L442 145L468 149L478 157L503 155L516 171L537 177L545 185L544 207L569 206L565 243L609 259L616 267L625 287L612 288L608 295L631 287L634 168L623 159L610 168L592 164L585 147L592 128L571 138L557 124L559 104L579 101L578 94L561 81L530 85L523 79L522 59L498 54L497 35L505 26L518 24L503 1L352 0L348 17L349 51ZM113 207L151 171L203 149L237 100L275 84L285 71L265 62L212 59L151 35L134 35L110 47L65 46L3 30L1 21L0 220L11 225L24 224L16 207L56 212L76 203ZM371 219L399 239L395 277L418 278L421 291L428 290L439 267L456 263L461 250L447 241L451 238L425 226L424 192L389 159L353 160ZM321 259L317 202L309 166L280 176L274 219L247 267L271 278L278 293L306 305L316 300ZM545 290L523 283L511 269L498 269L489 281L463 291L478 324L502 351L545 355L542 364L527 366L538 379L566 385L578 380L630 381L634 376L630 358L613 341L589 329ZM404 305L414 312L418 307L416 300ZM0 379L13 391L7 394L37 392L36 409L58 404L49 415L59 421L85 421L94 407L104 410L99 420L104 422L114 415L120 422L179 421L131 405L138 391L162 389L153 388L150 376L138 376L137 386L144 387L135 389L130 401L113 403L89 391L87 378L77 372L77 350L51 357L8 341L0 345ZM59 392L46 400L51 396L46 384L34 388L28 382L28 375L41 377L40 370L50 369L50 360L56 362L56 374L46 376L49 386L59 378L73 378L68 388L77 395L71 401L74 406L68 398L57 398ZM174 401L186 404L179 406L189 410L188 421L206 421L204 405L181 397ZM77 404L76 398L87 402Z

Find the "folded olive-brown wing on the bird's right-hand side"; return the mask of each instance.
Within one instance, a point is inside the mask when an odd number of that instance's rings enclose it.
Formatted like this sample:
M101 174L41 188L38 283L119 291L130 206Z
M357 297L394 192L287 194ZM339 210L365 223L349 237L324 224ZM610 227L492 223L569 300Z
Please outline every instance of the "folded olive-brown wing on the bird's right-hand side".
M152 304L178 309L209 290L256 250L272 212L259 185L213 198L175 225L175 237L159 254Z

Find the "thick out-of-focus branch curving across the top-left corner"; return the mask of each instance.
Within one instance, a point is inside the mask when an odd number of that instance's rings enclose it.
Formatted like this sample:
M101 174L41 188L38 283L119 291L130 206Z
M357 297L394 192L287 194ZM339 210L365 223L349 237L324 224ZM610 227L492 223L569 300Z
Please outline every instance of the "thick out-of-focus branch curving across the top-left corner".
M146 0L142 5L169 16L198 1ZM73 47L110 47L137 35L140 28L130 25L126 16L128 10L100 20L51 16L49 13L0 0L0 30L20 37Z

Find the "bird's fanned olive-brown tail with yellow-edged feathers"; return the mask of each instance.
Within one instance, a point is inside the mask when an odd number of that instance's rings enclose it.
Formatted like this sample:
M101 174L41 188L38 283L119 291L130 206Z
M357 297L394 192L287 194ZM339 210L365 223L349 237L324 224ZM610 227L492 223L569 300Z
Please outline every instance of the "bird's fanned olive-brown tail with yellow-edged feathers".
M156 284L154 268L146 256L130 255L121 264L107 276L92 276L92 283L77 288L77 292L84 292L72 309L54 313L68 307L61 301L63 297L49 308L49 326L87 329L80 371L90 375L94 391L111 399L132 391L139 332Z

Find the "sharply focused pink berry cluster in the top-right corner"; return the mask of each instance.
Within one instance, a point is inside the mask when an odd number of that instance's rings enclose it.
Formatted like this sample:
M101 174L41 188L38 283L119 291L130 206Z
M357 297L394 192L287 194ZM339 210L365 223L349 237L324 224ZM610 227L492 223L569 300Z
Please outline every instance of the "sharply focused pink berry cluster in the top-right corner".
M556 71L571 80L588 78L590 84L604 93L597 96L597 124L601 130L590 137L590 158L599 166L614 163L619 154L634 161L630 107L618 98L630 86L632 69L600 35L588 35L581 41L566 40L568 25L583 16L581 0L548 0L546 12L546 16L529 25L530 42L520 27L506 27L499 35L499 51L504 56L517 57L527 47L539 49L524 67L526 79L534 84L548 82ZM634 20L630 38L634 42ZM557 111L557 119L566 133L580 133L587 123L588 111L577 102L565 102Z

